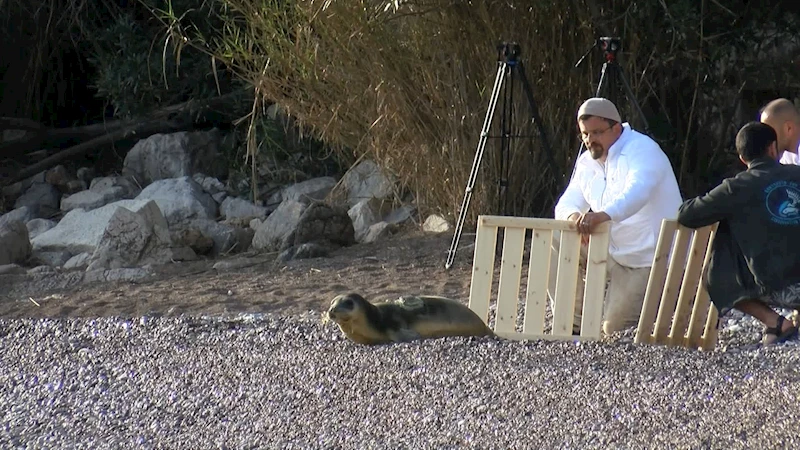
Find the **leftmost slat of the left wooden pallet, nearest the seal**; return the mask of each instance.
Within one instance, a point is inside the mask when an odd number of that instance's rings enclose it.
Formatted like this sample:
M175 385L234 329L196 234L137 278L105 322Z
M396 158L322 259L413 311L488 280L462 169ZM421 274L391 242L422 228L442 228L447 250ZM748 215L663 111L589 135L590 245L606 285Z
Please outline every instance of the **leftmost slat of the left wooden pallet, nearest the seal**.
M494 251L497 227L488 226L478 218L475 233L475 256L472 262L472 281L469 286L469 308L489 323L489 300L494 275Z

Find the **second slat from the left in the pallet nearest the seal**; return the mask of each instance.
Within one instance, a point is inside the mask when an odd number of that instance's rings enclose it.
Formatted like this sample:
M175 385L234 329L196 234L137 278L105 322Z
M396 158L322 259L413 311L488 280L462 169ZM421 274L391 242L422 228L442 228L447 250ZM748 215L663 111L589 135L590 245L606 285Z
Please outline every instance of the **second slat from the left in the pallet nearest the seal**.
M500 262L500 283L497 289L496 331L514 331L524 248L525 228L505 228L503 256Z

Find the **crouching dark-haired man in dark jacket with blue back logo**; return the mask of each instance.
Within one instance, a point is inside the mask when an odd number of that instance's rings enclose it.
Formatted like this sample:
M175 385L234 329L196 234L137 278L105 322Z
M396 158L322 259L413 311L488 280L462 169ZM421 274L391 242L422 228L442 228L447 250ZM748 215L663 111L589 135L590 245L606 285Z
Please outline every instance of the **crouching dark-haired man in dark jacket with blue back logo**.
M678 222L719 222L704 280L720 317L735 308L761 321L765 344L798 336L775 308L800 309L800 166L780 164L777 135L751 122L736 135L747 170L683 202Z

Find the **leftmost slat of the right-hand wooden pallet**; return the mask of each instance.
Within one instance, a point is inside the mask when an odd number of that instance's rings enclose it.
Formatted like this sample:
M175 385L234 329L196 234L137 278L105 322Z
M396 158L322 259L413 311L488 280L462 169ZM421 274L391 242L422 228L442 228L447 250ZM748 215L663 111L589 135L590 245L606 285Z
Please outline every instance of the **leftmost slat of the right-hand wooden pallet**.
M656 320L658 305L661 303L661 295L667 279L669 253L677 227L678 223L673 220L663 220L661 222L661 231L656 243L653 266L650 268L650 278L647 281L647 289L644 294L642 313L639 316L639 326L636 328L634 337L634 343L636 344L649 343L652 340L653 324Z

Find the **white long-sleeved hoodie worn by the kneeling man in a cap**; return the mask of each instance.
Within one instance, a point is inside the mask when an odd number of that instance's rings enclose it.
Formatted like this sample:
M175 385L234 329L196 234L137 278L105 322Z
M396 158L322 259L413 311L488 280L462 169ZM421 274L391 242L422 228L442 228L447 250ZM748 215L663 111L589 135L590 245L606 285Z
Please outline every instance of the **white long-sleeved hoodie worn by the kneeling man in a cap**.
M555 218L605 212L611 217L609 253L619 264L650 267L663 219L675 219L683 199L669 158L647 135L622 124L605 165L589 151L555 207Z

